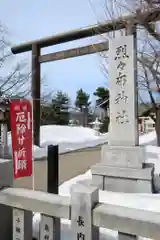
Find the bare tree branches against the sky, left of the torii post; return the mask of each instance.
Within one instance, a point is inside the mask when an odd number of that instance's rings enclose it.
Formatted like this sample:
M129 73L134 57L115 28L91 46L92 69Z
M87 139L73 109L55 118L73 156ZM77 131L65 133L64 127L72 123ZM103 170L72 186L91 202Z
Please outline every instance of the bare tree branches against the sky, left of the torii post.
M10 51L7 28L0 22L0 97L29 97L31 94L31 71L26 60L17 60ZM41 101L47 101L51 92L45 89L45 76L41 79Z

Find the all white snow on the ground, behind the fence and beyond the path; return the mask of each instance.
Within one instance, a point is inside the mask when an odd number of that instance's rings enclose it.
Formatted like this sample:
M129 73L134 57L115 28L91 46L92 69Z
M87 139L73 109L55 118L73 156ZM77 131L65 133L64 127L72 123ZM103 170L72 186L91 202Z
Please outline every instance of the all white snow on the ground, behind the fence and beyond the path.
M84 129L83 127L77 129L77 127L68 127L66 128L66 132L62 136L59 134L57 137L53 138L52 136L48 138L48 135L51 134L51 128L54 132L55 127L49 126L46 133L44 133L43 143L42 145L46 147L48 144L62 144L64 147L64 143L66 144L65 150L69 149L78 149L84 148L86 146L93 146L94 144L100 144L107 142L107 134L101 136L95 136L94 130L92 129ZM44 131L44 127L42 129L42 134ZM61 127L56 127L57 132L61 131ZM64 128L65 129L65 128ZM72 133L70 131L73 131ZM81 133L81 131L84 131ZM48 135L47 135L48 134ZM69 134L69 136L67 135ZM79 135L79 136L78 136ZM48 139L47 141L45 139ZM62 140L62 143L61 143ZM74 142L73 142L74 141ZM94 143L94 144L93 144ZM156 173L160 173L160 148L155 146L156 143L156 134L155 132L151 132L149 134L145 134L140 136L140 145L145 146L146 149L146 161L149 163L155 164ZM68 145L67 145L68 144ZM73 144L73 145L72 145ZM70 145L72 145L70 147ZM68 147L67 147L68 146ZM94 145L96 146L96 145ZM39 151L39 150L37 150ZM83 175L79 175L65 183L63 183L59 187L59 194L62 196L70 196L70 188L73 184L81 180L89 180L91 179L91 171L89 170ZM126 194L126 193L113 193L113 192L104 192L99 191L99 199L100 202L109 203L109 204L117 204L126 206L126 207L136 207L140 209L150 209L152 211L156 211L157 209L160 211L159 200L157 198L160 194ZM139 198L141 197L141 198ZM152 198L151 198L152 197ZM154 204L152 200L155 200ZM157 200L157 201L156 201ZM33 229L34 229L34 237L38 239L39 233L39 222L40 222L40 214L36 213L33 217ZM61 219L61 239L69 240L71 239L71 230L70 230L70 221L66 219ZM108 239L115 240L118 239L118 235L116 231L112 231L109 229L100 229L100 239ZM141 239L141 238L140 238ZM144 239L144 238L143 238Z

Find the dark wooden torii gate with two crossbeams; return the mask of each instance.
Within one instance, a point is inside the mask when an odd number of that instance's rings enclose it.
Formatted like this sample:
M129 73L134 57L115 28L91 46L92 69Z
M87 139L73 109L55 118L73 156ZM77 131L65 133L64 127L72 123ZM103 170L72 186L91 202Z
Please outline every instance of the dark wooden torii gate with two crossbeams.
M108 41L46 55L41 55L41 49L52 45L121 30L126 28L128 24L132 26L136 26L138 24L143 25L152 36L154 36L157 40L160 40L160 36L156 34L149 25L150 22L155 22L158 20L160 20L160 8L148 8L147 11L141 11L141 9L137 9L135 15L129 15L115 20L106 21L102 24L53 35L32 42L26 42L11 48L11 51L14 54L32 51L32 98L35 145L39 146L40 144L40 64L49 61L56 61L107 51Z

